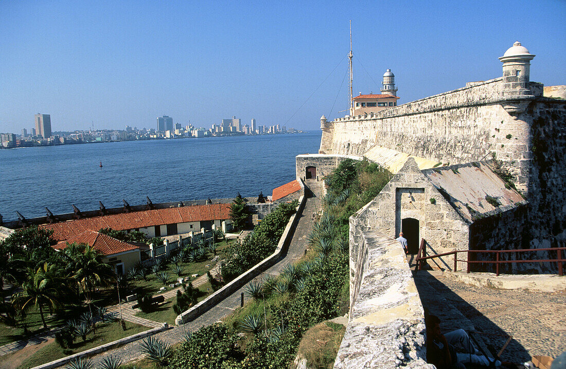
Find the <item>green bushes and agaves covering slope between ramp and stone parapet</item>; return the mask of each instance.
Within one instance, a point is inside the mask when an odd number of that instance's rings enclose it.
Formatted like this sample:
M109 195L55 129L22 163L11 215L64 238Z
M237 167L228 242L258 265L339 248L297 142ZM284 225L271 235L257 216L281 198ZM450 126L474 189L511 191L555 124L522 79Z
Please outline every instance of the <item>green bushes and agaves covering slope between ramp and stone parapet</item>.
M285 266L278 277L249 284L247 295L253 300L224 323L196 331L175 351L169 368L288 368L309 328L348 311L348 218L391 176L367 161L340 163L327 179L324 215L308 237L307 256ZM340 337L340 328L326 324ZM333 362L340 345L336 337L311 351L310 361Z

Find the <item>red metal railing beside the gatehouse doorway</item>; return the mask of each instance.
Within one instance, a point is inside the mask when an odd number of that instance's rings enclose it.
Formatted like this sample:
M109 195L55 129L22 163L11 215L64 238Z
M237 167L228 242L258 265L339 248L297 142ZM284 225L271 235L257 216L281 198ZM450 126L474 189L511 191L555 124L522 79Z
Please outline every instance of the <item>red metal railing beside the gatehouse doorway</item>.
M562 263L566 261L562 257L562 250L566 250L566 248L546 248L546 249L517 249L517 250L454 250L450 251L449 253L442 253L442 254L435 254L431 256L426 256L426 248L424 247L425 242L424 238L421 240L421 247L419 248L419 252L417 254L417 258L415 262L417 262L416 270L422 269L422 263L424 260L432 259L432 258L439 258L448 255L454 255L454 272L458 271L457 264L458 262L465 262L468 265L467 272L470 272L470 264L471 263L484 263L484 264L495 264L495 274L499 276L499 264L505 263L558 263L558 275L564 275L562 269ZM502 253L521 253L521 252L533 252L533 251L556 251L557 258L556 259L529 259L529 260L500 260L499 254ZM458 253L468 253L468 260L459 260L457 259ZM495 253L495 261L490 260L469 260L471 254L492 254Z

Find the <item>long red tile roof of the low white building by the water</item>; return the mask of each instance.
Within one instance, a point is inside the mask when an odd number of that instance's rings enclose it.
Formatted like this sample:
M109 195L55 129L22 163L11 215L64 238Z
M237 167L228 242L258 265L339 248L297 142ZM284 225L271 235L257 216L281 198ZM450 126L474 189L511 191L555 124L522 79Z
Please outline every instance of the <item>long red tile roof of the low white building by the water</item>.
M125 212L42 224L39 227L53 229L52 238L55 241L64 241L84 231L100 231L100 229L107 227L116 231L125 231L127 229L153 227L154 225L225 219L230 219L229 203Z

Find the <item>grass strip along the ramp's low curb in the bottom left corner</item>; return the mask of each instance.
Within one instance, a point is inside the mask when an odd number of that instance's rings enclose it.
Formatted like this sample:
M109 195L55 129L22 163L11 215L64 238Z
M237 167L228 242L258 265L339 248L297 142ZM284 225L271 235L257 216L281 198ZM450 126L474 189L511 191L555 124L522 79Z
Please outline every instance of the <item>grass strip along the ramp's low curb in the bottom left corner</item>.
M66 357L68 355L79 353L80 351L95 348L96 346L107 344L120 338L135 335L135 333L147 331L148 327L143 325L126 322L126 331L122 330L119 322L98 323L96 334L91 333L87 336L87 341L83 342L82 338L75 338L72 349L62 349L56 342L50 342L38 349L18 366L18 368L31 368L50 361ZM3 361L9 361L7 355L3 357ZM7 362L6 362L7 363Z

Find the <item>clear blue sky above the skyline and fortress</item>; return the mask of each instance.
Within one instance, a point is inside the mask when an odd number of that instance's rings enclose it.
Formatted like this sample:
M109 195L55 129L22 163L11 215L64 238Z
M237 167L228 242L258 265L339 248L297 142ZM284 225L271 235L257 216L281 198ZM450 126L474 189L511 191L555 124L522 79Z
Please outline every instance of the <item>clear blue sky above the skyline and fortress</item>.
M54 131L164 114L318 129L348 108L350 19L354 94L379 92L387 68L399 103L498 77L517 40L537 55L531 80L566 84L564 0L0 1L0 132L37 112Z

